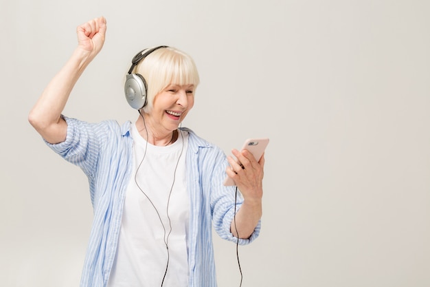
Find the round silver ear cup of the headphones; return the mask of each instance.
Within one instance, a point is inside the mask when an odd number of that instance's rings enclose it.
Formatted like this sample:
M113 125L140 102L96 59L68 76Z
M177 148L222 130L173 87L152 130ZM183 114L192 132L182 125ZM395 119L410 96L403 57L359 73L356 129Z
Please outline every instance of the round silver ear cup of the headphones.
M128 105L142 109L146 105L146 81L141 74L127 74L124 93Z

